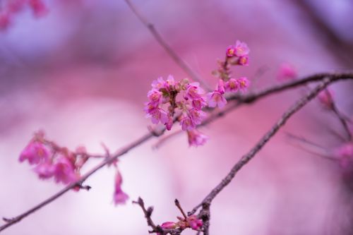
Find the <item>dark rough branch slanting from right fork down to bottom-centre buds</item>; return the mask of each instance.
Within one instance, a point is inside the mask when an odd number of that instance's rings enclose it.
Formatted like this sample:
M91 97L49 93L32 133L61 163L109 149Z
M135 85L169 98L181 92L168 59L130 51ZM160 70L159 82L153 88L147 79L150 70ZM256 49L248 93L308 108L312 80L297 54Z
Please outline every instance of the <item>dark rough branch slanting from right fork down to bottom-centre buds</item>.
M323 90L328 84L332 83L334 80L335 80L335 76L331 78L325 78L320 85L318 85L315 89L309 92L308 95L302 97L287 112L285 112L285 114L282 115L282 117L277 121L277 123L275 123L275 125L272 128L270 128L270 131L268 131L268 133L263 135L263 138L261 138L261 140L259 140L258 143L246 155L241 157L241 159L236 164L234 164L234 167L232 167L232 169L229 171L227 176L225 176L225 178L222 179L222 181L202 200L202 202L199 205L194 207L193 210L189 212L189 215L194 214L199 207L202 207L200 214L201 216L203 214L208 215L208 217L204 218L204 222L208 222L209 213L210 213L210 204L212 200L218 195L218 193L220 193L223 190L223 188L225 188L232 181L232 179L234 179L234 176L237 174L237 172L242 167L244 167L244 165L247 164L256 155L256 153L258 153L262 149L262 147L266 143L268 143L268 140L270 140L270 138L272 138L273 135L275 135L275 133L277 133L277 131L279 131L280 128L285 125L287 120L293 114L298 112L299 109L304 107L305 104L307 104L310 100L316 97L316 95L318 95L318 93L321 92L321 90ZM205 226L204 234L208 235L208 225Z

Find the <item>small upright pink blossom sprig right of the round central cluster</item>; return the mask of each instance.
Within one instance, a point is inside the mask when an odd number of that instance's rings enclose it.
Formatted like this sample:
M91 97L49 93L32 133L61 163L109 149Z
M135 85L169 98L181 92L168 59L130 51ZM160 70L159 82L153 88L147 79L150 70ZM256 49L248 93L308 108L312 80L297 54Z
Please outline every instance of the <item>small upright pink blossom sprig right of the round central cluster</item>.
M249 87L248 78L232 78L230 71L230 66L248 66L249 52L249 47L240 41L227 48L225 61L218 61L219 68L217 71L213 71L213 75L220 78L220 80L216 89L207 95L210 107L225 107L225 104L227 104L227 100L224 97L225 92L244 92Z

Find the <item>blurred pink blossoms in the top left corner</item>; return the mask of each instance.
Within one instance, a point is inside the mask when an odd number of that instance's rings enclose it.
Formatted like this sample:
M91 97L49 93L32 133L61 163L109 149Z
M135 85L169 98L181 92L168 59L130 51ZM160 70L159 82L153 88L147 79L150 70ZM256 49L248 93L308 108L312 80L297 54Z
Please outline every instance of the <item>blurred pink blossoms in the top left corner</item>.
M48 12L42 0L4 0L0 9L0 30L6 30L16 14L26 7L29 7L36 17L44 16Z

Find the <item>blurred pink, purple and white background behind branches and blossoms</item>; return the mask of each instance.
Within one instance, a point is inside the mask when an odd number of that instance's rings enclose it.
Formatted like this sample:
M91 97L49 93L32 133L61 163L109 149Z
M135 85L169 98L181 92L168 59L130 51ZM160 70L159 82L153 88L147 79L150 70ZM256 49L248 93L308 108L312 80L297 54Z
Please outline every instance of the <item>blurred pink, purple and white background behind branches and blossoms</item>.
M152 80L186 77L122 0L44 1L49 13L25 10L0 32L0 216L11 217L63 186L40 181L18 155L42 129L74 149L115 151L147 131L143 103ZM280 64L299 76L347 70L353 62L353 3L348 0L135 0L164 40L209 84L216 60L236 40L251 49L251 66L234 73L251 90L275 85ZM259 73L261 71L261 73ZM337 106L352 117L352 82L333 85ZM198 204L303 90L266 97L202 128L210 140L189 147L177 135L128 152L119 169L132 200L153 205L155 222L174 220L178 198ZM175 126L174 129L179 128ZM340 144L340 123L311 102L236 176L212 205L212 234L353 234L352 188L332 161L299 149L285 132ZM91 162L87 171L97 162ZM148 234L140 208L114 207L114 169L86 181L4 234ZM185 234L195 234L188 231Z

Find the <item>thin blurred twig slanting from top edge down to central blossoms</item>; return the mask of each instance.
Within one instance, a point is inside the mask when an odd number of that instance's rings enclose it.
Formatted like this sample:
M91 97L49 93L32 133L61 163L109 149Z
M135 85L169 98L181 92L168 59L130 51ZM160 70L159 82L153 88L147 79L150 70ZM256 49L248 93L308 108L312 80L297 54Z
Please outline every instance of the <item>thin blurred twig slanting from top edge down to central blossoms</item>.
M170 47L167 42L165 42L162 38L162 36L160 35L160 32L158 32L155 28L155 25L153 25L152 23L150 23L144 16L143 14L140 13L140 11L138 11L138 9L136 8L136 6L133 5L133 3L130 0L125 0L126 4L128 4L128 7L131 9L131 11L133 11L133 13L135 14L135 16L137 16L137 18L140 20L141 23L143 23L143 25L145 25L146 28L148 28L148 30L150 30L151 34L153 35L153 37L155 37L155 40L160 44L161 47L163 47L163 49L165 50L165 52L167 52L167 54L169 54L169 56L174 60L174 62L182 69L185 71L186 74L188 74L194 81L200 83L203 88L205 88L206 90L211 90L210 87L205 83L205 81L195 72L193 71L193 69L188 66L188 64L186 64L186 62L181 59L176 52L174 52L174 50L172 49L172 47Z

